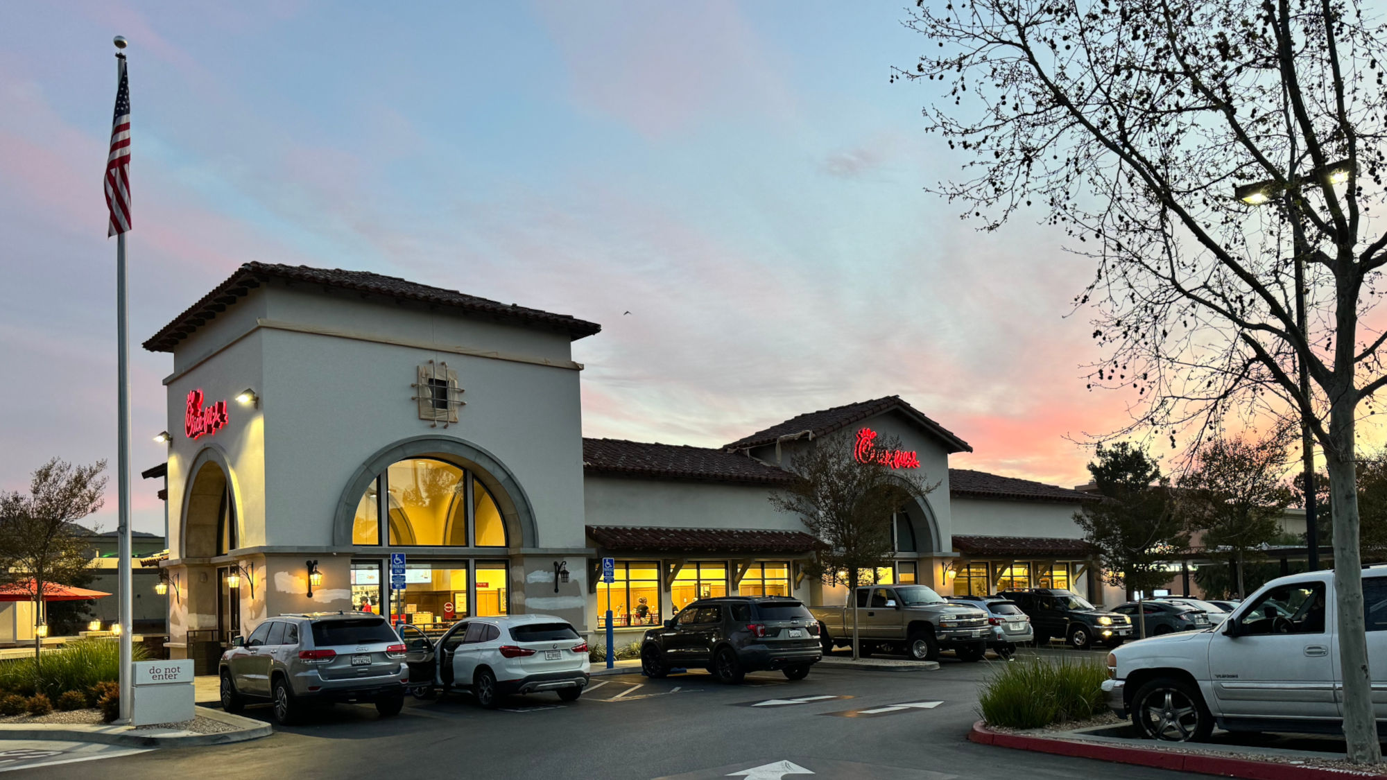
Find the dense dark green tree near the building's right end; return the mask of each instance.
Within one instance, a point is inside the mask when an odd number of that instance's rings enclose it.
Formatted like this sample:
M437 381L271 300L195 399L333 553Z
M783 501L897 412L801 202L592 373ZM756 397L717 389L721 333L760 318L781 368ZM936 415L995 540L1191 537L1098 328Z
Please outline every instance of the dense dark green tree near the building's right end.
M1166 563L1190 540L1169 480L1146 450L1128 441L1100 446L1096 454L1089 473L1103 501L1086 504L1074 522L1103 557L1108 584L1150 593L1171 579ZM1137 623L1144 634L1144 622Z

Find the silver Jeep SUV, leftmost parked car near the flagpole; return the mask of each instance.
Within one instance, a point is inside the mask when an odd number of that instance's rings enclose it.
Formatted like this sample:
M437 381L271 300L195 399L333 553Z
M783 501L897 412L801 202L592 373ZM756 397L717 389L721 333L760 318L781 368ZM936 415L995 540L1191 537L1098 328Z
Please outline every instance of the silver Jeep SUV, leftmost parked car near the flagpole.
M268 700L288 724L312 702L369 701L383 716L405 702L405 643L380 615L311 612L280 615L236 637L222 654L222 709Z

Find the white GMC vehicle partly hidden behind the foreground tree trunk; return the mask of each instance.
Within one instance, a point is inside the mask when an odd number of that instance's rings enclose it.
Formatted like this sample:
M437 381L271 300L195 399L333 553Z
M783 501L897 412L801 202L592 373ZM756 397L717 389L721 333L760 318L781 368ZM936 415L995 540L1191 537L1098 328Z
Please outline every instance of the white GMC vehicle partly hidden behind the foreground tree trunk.
M1155 740L1229 731L1338 731L1333 572L1262 586L1219 626L1129 643L1108 654L1108 706ZM1368 666L1387 726L1387 568L1363 569Z

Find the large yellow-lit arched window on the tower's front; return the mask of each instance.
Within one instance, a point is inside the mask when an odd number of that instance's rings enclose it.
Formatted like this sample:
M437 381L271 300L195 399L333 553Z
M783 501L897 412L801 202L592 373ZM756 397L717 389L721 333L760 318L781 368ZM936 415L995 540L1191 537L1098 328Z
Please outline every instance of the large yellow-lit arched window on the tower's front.
M506 547L506 527L491 493L472 472L436 458L408 458L366 486L352 544Z

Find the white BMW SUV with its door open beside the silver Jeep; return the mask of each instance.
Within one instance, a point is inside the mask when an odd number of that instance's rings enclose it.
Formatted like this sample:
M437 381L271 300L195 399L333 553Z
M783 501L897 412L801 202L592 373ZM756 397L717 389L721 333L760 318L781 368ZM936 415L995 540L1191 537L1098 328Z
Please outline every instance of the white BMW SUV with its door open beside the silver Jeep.
M437 643L413 626L399 633L415 695L462 688L490 709L509 694L553 691L576 701L588 684L588 643L553 615L467 618Z

